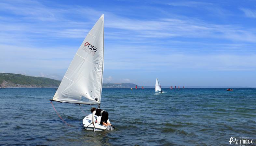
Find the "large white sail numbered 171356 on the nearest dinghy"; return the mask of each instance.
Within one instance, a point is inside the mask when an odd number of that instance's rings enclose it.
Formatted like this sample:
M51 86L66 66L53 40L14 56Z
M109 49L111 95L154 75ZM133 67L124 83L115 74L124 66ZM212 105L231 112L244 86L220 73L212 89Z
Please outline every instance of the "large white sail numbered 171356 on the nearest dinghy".
M79 104L101 103L103 61L102 15L77 50L52 100Z

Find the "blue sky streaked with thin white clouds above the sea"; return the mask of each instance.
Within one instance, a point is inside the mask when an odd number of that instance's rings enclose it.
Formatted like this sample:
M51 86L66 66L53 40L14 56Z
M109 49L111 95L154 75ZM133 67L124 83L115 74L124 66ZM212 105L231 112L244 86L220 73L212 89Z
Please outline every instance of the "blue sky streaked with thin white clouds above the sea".
M61 80L102 14L103 82L256 87L254 0L0 0L0 73Z

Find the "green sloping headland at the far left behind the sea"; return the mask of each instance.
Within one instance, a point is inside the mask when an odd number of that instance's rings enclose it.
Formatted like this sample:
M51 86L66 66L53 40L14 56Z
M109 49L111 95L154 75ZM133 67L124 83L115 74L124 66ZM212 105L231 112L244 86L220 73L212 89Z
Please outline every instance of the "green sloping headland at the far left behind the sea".
M0 73L0 87L56 88L61 81L12 73Z

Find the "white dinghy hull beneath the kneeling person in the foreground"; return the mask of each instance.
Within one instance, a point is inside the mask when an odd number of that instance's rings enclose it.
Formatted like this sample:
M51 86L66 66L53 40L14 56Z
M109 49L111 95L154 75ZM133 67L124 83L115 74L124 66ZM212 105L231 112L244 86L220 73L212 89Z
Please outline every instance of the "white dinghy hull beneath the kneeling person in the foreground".
M83 125L85 127L86 130L94 130L94 131L103 131L103 130L106 130L106 126L104 125L101 125L101 116L94 116L94 119L96 120L97 119L97 123L95 123L94 125L91 124L92 121L91 121L91 116L92 114L90 115L87 115L84 119L83 119ZM95 121L94 120L94 121ZM108 119L108 123L109 122L109 119ZM94 127L95 126L95 127Z

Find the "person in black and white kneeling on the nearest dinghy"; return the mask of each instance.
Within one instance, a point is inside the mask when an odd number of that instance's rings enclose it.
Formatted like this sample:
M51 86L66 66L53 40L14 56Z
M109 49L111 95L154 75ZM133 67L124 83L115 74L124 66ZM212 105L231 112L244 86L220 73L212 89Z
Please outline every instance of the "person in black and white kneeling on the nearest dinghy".
M96 116L101 116L101 125L112 126L113 128L115 128L114 125L108 123L108 112L102 109L96 109L95 107L92 107L91 113L92 113L92 117L91 117L92 124L94 124L94 115L96 115Z

